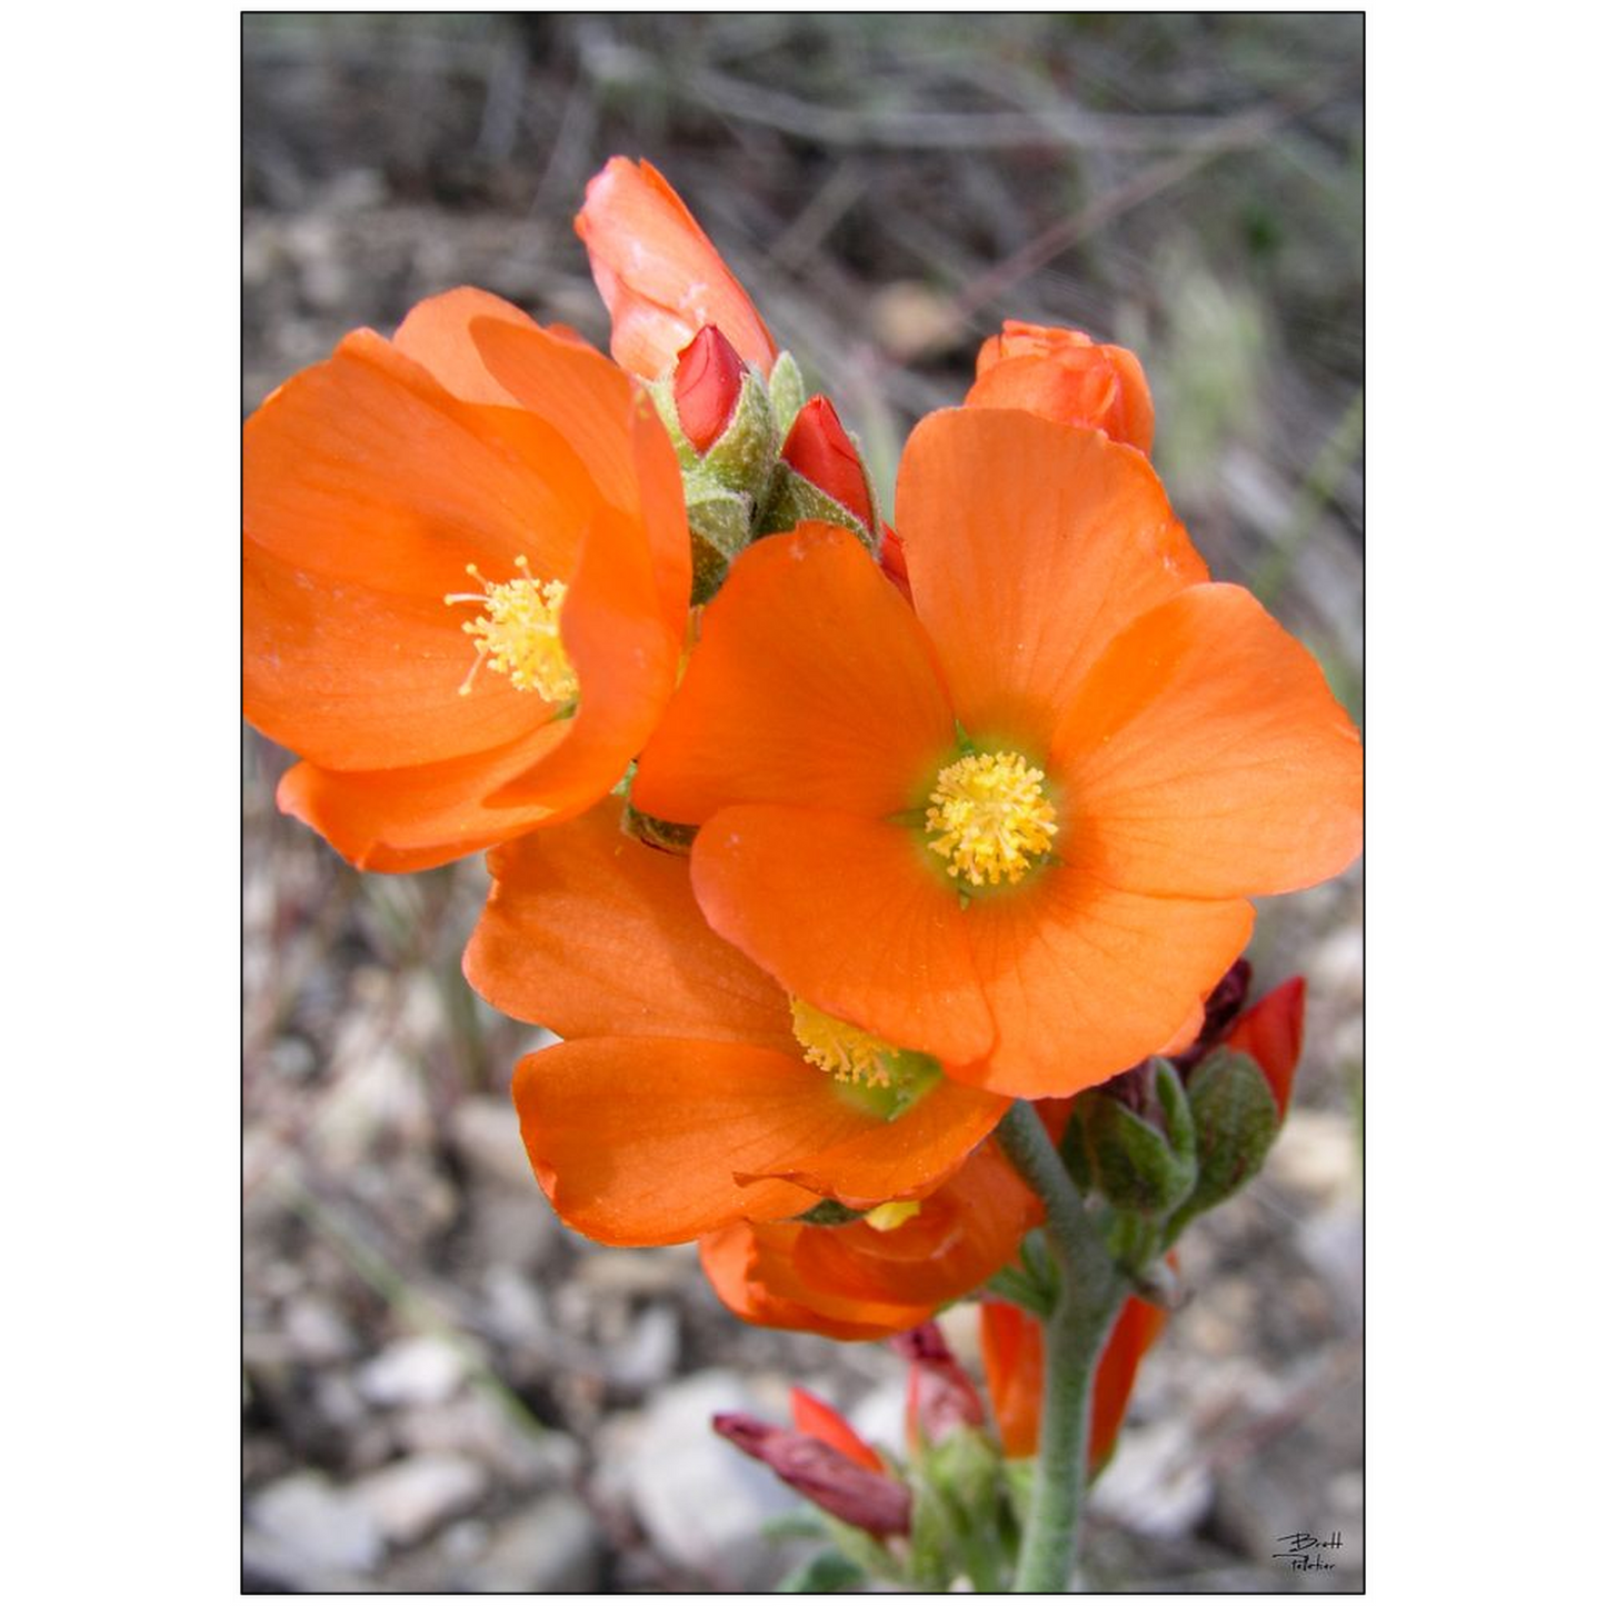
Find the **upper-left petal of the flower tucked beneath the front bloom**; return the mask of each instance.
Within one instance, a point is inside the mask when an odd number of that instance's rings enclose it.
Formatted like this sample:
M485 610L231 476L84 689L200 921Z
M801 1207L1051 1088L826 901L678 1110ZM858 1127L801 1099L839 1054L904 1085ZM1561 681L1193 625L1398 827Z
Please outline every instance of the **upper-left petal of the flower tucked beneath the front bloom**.
M605 800L491 854L491 895L463 959L471 984L564 1037L793 1050L785 996L710 930L686 859L626 837L620 811Z

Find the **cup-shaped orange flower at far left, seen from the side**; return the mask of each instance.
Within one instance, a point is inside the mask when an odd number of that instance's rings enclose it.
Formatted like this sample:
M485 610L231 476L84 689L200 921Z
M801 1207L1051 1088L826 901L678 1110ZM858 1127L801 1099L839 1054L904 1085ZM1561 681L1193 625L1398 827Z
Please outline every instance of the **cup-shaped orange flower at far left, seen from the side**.
M679 663L675 451L607 358L480 291L347 336L246 424L246 716L363 869L580 813Z

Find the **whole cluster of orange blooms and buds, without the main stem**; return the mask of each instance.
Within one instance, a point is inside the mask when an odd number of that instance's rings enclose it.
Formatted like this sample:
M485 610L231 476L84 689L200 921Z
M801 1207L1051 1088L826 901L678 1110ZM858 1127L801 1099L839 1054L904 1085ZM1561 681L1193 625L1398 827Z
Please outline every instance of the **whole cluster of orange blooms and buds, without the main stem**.
M361 869L490 850L464 967L562 1039L512 1094L569 1225L699 1240L739 1315L845 1339L991 1283L988 1442L1031 1453L1070 1272L1001 1123L1034 1102L1158 1298L1286 1107L1299 988L1241 1013L1235 962L1251 898L1359 851L1355 732L1211 583L1132 353L1005 324L911 435L895 530L652 167L610 161L577 226L610 357L458 289L249 421L279 805ZM723 1431L817 1484L779 1429ZM827 1510L919 1529L874 1452L832 1453Z

